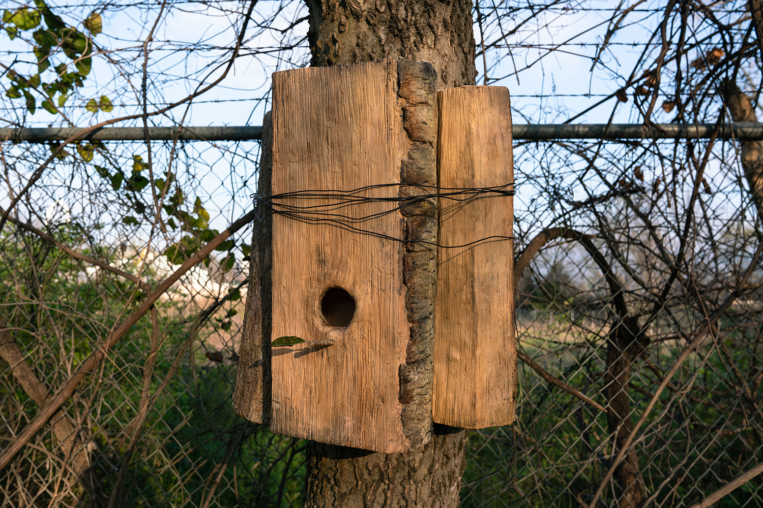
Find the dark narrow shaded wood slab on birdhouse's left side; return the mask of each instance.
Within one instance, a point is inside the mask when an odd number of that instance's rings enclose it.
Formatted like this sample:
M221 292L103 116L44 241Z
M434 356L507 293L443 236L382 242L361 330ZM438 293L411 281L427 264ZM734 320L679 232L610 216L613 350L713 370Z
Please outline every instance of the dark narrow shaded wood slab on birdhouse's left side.
M269 111L265 113L262 121L262 145L257 181L257 190L264 196L270 194L273 167L272 145L272 113ZM269 423L272 383L269 340L272 218L265 205L257 206L257 217L253 225L250 279L246 289L236 388L233 391L233 409L240 416L253 422Z

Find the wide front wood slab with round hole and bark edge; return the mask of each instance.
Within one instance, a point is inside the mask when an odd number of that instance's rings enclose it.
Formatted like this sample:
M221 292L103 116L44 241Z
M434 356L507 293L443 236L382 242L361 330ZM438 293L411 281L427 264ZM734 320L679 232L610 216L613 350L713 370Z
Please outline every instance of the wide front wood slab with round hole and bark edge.
M429 78L433 75L430 67ZM427 91L411 92L410 99L398 96L400 86L398 61L391 59L276 72L272 193L399 184L401 172L408 171L404 161L411 174L433 183L433 81ZM381 187L362 195L395 197L398 192L414 190ZM278 203L336 201L289 198ZM362 217L394 206L364 202L328 211ZM429 200L428 207L425 202L406 212L394 209L351 225L391 238L412 235L432 241L435 209ZM428 252L427 264L426 255L410 255L418 252L413 244L406 248L400 241L336 223L282 214L273 216L272 228L272 333L266 340L295 335L335 342L323 348L273 348L272 431L378 452L426 443L431 436L433 252ZM428 276L417 286L419 273ZM331 326L324 318L321 299L332 287L346 290L356 303L346 327ZM422 323L423 330L414 330Z

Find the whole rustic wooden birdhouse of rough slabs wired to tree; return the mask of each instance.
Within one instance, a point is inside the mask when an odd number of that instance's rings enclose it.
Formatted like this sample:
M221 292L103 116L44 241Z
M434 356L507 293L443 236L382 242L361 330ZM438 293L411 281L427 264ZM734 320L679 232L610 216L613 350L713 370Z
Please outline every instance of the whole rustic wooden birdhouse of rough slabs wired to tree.
M405 452L433 417L513 420L508 91L441 92L438 132L435 87L405 59L273 74L233 404L274 433Z

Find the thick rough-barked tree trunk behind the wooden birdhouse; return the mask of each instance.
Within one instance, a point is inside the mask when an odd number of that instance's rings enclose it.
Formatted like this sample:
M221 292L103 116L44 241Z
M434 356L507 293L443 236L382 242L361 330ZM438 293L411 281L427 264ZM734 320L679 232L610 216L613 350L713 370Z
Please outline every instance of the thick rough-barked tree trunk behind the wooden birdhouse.
M432 63L439 89L475 85L471 2L306 2L314 66L401 56ZM426 446L406 453L311 443L305 506L458 506L465 440L464 430L435 425Z

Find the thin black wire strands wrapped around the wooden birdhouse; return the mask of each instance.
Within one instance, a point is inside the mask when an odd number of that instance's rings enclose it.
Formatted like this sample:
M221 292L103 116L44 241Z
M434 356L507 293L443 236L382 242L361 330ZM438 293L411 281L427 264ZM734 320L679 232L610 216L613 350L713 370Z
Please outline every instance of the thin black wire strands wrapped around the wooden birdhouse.
M406 240L404 238L396 238L390 235L384 235L379 232L374 232L369 229L359 228L352 225L351 222L366 222L371 219L375 219L380 216L388 215L389 213L402 211L404 206L410 206L411 204L420 203L422 201L430 200L433 198L443 198L452 201L466 202L474 200L483 195L497 195L497 196L513 196L514 182L508 184L499 185L496 187L437 187L436 185L422 185L422 184L376 184L368 185L365 187L359 187L353 190L322 190L322 189L308 189L308 190L296 190L294 192L285 192L279 194L272 194L270 196L261 196L259 193L253 193L250 198L253 199L255 209L257 206L262 205L269 209L269 215L266 217L260 217L259 214L256 218L259 221L266 219L274 214L286 216L291 219L295 219L301 222L326 222L329 224L338 225L341 228L346 228L351 231L363 233L366 235L372 235L378 238L385 238L392 241L400 241L401 243L411 244L425 244L432 245L436 248L465 248L474 244L481 243L488 240L513 240L513 236L501 236L492 235L480 238L475 241L470 241L467 244L461 245L441 245L433 241L424 240ZM416 194L414 196L360 196L359 193L386 188L386 187L406 187L417 188L422 190L435 189L439 192L429 192L423 194ZM510 190L507 187L512 187ZM314 205L299 205L290 203L276 203L276 200L336 200L332 203L320 203ZM365 203L375 202L388 202L398 203L391 209L384 210L382 212L376 212L367 216L354 217L344 215L342 213L330 212L330 210L342 209L349 206L356 206Z

